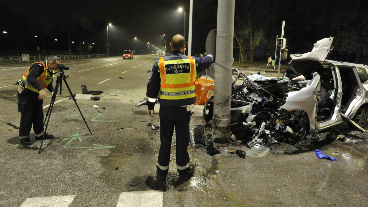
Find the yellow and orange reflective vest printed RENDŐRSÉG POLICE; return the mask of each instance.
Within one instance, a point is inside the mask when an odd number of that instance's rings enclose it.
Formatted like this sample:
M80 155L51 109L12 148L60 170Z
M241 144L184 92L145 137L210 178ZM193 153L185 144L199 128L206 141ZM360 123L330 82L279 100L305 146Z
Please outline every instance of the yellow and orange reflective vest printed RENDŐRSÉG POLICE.
M194 81L197 78L195 60L159 60L161 87L159 99L187 99L195 97Z

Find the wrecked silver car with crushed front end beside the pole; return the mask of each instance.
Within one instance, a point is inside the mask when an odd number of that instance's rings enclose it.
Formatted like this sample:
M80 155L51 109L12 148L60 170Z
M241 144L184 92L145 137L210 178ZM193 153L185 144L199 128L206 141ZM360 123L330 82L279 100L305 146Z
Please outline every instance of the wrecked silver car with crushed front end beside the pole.
M312 52L291 55L282 78L237 69L232 83L231 132L250 147L256 143L304 144L308 134L348 122L364 132L368 125L368 67L326 60L333 38L314 44ZM239 83L240 84L236 84ZM206 122L212 118L206 103Z

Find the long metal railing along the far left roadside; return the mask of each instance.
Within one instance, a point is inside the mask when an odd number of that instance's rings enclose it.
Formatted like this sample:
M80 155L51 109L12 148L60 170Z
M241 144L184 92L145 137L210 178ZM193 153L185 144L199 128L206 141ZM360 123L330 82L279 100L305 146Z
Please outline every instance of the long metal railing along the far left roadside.
M22 56L2 56L0 57L0 64L15 64L24 62L37 62L44 61L48 56L29 56L29 60L24 60ZM79 60L79 59L90 59L97 57L107 57L107 54L96 54L96 55L59 55L61 60Z

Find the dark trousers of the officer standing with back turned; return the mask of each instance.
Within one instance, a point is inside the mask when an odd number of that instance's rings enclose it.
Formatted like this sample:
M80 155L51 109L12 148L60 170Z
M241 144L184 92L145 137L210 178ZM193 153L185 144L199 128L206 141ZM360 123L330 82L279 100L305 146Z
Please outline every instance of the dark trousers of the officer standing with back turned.
M191 112L181 106L160 105L160 150L157 172L166 176L169 172L171 140L176 132L176 168L179 174L189 172L188 145L190 141L189 122Z

